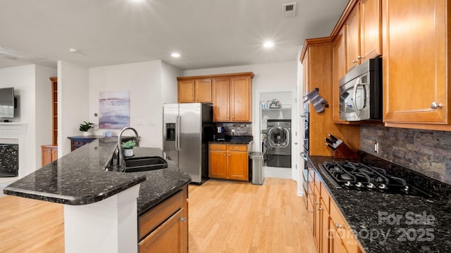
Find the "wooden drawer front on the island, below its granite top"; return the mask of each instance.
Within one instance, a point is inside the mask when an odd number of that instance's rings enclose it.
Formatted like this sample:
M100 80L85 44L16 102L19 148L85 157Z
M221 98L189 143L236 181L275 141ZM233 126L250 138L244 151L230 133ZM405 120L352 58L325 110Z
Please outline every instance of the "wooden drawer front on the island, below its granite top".
M146 214L138 218L138 230L140 240L144 238L150 231L154 230L159 224L163 223L170 216L175 214L178 209L183 207L183 200L185 196L185 190L180 190L168 200L150 210Z

